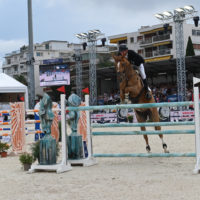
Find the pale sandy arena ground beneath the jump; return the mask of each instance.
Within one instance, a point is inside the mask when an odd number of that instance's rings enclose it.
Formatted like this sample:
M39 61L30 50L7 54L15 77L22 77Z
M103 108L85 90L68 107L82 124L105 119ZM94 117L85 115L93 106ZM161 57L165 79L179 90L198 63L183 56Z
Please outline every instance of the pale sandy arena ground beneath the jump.
M158 136L150 136L149 141L153 153L162 152ZM194 152L194 135L165 136L165 141L170 152ZM96 136L93 145L94 153L145 153L142 136ZM0 158L0 200L200 199L200 174L192 173L195 158L97 158L97 161L95 166L74 167L62 174L27 174L18 156Z

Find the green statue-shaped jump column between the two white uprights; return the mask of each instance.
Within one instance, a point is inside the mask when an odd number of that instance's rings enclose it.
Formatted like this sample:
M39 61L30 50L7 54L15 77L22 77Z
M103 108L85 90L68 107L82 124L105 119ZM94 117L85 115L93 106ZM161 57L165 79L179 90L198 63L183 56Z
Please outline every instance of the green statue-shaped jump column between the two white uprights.
M81 98L76 94L72 94L68 98L68 106L78 107L81 104ZM69 120L71 126L71 134L68 136L68 158L82 159L83 158L83 140L82 135L77 132L78 120L80 117L79 111L70 111Z

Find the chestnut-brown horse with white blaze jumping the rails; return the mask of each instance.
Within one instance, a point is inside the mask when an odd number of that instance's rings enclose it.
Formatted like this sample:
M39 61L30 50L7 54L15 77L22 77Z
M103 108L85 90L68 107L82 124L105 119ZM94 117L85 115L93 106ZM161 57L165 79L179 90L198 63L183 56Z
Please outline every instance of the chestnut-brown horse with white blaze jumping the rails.
M131 100L131 103L155 103L153 95L151 99L146 99L146 91L143 87L143 82L140 75L133 69L130 62L124 56L113 56L115 60L115 66L117 76L120 78L120 99L121 102L127 102L127 98ZM152 122L159 122L159 114L157 108L135 108L134 109L138 122L146 122L149 118ZM142 131L145 131L145 127L141 127ZM160 126L155 126L155 130L161 130ZM146 142L147 152L151 151L149 146L148 136L143 135ZM165 153L169 153L167 145L163 140L163 135L159 134L162 140L162 146Z

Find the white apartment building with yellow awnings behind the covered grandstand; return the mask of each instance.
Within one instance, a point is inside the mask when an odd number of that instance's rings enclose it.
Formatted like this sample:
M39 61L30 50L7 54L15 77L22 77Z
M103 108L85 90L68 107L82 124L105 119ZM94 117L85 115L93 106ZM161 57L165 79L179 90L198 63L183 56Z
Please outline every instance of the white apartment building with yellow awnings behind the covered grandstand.
M200 27L183 23L184 49L188 37L192 39L195 55L200 55ZM133 49L142 55L146 62L155 62L176 58L175 24L169 23L167 29L163 24L154 26L142 26L137 32L123 33L109 36L111 44L126 43L129 49Z

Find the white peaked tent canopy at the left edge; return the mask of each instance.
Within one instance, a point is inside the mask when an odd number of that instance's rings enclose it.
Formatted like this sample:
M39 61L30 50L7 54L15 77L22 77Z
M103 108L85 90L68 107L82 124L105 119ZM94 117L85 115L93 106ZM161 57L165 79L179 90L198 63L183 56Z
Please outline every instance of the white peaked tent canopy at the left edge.
M0 93L24 93L26 108L28 108L27 86L4 73L0 73Z

